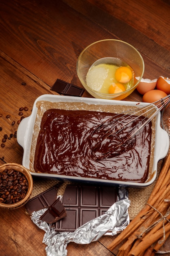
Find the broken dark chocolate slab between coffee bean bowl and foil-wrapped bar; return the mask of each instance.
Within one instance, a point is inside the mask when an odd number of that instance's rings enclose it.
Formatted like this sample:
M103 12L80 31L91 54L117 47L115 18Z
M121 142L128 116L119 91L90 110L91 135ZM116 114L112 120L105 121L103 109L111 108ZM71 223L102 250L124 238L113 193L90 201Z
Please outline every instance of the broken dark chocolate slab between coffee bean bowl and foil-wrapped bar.
M56 184L46 191L40 193L39 195L31 198L25 204L28 213L31 214L33 211L38 211L50 207L57 198L57 190L59 186L59 184Z

